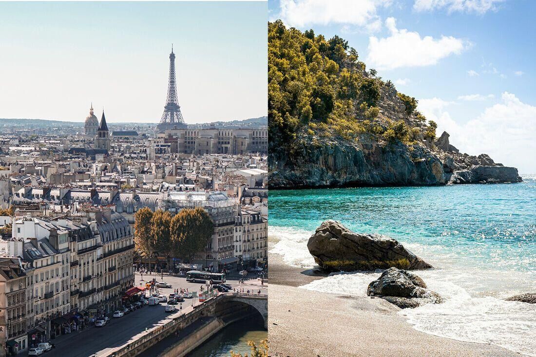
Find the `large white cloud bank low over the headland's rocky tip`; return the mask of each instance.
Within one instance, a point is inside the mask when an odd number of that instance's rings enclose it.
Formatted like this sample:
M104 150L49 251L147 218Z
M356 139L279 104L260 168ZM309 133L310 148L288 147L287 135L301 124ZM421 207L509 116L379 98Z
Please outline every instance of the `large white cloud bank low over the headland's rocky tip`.
M419 110L437 123L437 134L450 134L450 143L460 152L489 154L495 162L536 172L536 107L504 92L501 102L483 110L478 117L460 124L446 110L452 102L438 98L419 100Z

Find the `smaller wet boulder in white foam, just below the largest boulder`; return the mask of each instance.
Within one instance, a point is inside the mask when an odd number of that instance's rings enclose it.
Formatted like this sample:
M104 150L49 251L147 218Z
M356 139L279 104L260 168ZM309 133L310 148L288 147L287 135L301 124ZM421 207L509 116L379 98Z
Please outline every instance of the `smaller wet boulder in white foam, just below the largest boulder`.
M441 303L441 295L427 288L415 274L391 267L367 287L368 296L379 296L399 308L416 308L427 303Z

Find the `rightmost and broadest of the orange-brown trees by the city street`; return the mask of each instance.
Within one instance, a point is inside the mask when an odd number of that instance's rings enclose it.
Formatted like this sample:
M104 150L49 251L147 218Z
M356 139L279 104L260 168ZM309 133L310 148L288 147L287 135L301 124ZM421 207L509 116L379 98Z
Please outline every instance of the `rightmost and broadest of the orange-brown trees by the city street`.
M202 207L183 209L171 220L173 255L187 261L205 249L214 232L214 222Z

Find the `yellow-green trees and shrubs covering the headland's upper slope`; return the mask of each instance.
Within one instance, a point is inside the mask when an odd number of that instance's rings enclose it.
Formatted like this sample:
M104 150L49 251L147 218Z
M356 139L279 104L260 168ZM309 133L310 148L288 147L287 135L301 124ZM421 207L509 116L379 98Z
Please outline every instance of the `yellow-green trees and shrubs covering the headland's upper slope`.
M281 20L268 24L268 125L271 158L279 153L288 160L299 157L307 136L360 140L363 135L388 143L409 144L407 132L427 130L417 100L398 93L391 81L366 70L357 51L339 36L331 39L287 28ZM386 107L381 107L382 98ZM404 103L414 127L405 128L390 116L389 103ZM420 135L420 133L419 133ZM413 135L416 137L419 135ZM295 153L295 154L293 154ZM289 155L287 155L289 154ZM277 160L277 159L276 159Z

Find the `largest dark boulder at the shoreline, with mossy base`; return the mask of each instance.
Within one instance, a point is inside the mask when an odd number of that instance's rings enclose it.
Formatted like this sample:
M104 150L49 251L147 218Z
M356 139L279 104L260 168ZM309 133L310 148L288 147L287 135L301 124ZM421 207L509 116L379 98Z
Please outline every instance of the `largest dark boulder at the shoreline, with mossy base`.
M433 267L391 237L354 233L334 220L322 222L307 248L315 262L329 272Z

